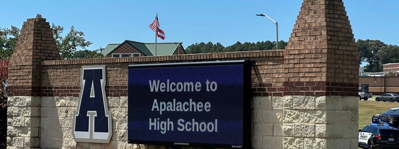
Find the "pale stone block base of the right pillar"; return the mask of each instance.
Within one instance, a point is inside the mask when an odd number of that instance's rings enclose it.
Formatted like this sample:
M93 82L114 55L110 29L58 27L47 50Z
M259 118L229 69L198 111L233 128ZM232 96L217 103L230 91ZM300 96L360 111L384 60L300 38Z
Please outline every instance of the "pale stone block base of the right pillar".
M357 97L283 98L283 149L358 149Z

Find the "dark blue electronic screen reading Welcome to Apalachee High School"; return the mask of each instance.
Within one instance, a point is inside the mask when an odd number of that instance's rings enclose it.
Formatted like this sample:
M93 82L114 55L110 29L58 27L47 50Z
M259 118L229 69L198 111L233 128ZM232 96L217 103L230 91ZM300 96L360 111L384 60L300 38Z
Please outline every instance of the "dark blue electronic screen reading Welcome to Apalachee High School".
M130 68L128 140L242 145L243 67Z

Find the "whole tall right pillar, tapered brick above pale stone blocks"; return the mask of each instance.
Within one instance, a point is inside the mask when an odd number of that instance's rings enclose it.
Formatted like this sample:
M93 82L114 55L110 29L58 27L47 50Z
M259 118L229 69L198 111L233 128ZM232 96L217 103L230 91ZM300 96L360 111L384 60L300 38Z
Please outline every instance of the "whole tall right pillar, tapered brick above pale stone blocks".
M284 55L283 148L358 149L359 52L342 0L304 0Z

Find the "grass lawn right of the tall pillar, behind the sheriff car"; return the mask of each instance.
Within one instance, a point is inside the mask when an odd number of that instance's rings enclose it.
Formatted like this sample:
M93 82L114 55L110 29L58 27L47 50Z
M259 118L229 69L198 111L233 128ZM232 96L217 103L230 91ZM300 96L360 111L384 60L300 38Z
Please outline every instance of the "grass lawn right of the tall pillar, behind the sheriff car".
M369 99L370 100L370 99ZM383 101L359 101L359 129L363 129L366 125L371 123L371 117L374 114L380 114L390 108L398 107L398 102L383 102Z

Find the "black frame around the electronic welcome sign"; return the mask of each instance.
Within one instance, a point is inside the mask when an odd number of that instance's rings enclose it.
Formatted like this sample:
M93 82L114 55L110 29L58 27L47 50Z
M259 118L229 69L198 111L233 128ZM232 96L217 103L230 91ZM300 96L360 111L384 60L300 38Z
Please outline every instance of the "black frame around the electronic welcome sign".
M252 149L251 146L251 60L236 60L236 61L212 61L212 62L188 62L188 63L161 63L161 64L138 64L129 65L128 69L137 68L164 68L164 67L191 67L191 66L215 66L215 65L243 65L243 135L242 146L225 145L225 144L204 144L204 143L181 143L181 142L163 142L163 141L144 141L144 140L128 140L129 144L147 144L147 145L165 145L169 147L206 147L206 148L237 148L237 149ZM128 87L129 88L129 87ZM128 98L130 97L128 91ZM129 100L129 99L128 99ZM129 109L129 107L128 107ZM129 114L128 114L129 121ZM129 125L128 125L129 132Z

